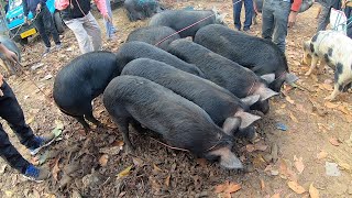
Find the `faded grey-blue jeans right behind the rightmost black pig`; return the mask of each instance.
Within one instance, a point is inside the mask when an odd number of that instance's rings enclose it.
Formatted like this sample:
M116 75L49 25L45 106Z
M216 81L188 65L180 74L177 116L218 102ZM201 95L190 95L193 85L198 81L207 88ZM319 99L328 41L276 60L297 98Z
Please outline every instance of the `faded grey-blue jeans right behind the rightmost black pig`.
M289 1L264 0L262 11L262 37L273 41L284 53L290 6Z

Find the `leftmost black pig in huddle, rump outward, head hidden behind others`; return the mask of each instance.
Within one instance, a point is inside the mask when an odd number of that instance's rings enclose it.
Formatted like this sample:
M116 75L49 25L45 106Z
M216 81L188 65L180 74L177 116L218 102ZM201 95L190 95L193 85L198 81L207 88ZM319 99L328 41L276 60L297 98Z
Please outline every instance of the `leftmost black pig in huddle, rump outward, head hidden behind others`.
M100 124L92 116L91 100L103 92L110 80L120 75L116 54L91 52L63 67L54 81L53 97L64 113L74 117L85 130L88 121Z

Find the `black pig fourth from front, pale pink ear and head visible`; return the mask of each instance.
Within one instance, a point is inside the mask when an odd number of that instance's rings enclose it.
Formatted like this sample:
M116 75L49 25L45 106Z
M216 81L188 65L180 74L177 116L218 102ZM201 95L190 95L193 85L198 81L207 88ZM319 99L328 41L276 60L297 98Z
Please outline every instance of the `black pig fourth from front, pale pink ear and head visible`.
M169 44L168 52L187 63L195 64L209 80L239 98L258 95L260 101L252 106L252 109L266 113L270 109L267 99L277 94L267 88L266 81L252 70L191 41L176 40ZM274 80L274 74L265 75L263 78L267 78L268 81Z

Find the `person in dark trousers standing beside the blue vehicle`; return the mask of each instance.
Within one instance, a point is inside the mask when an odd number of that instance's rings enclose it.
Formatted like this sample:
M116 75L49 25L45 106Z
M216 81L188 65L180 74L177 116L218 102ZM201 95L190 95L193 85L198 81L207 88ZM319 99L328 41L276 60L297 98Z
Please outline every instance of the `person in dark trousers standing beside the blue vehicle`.
M59 41L59 36L54 25L52 14L46 6L46 0L23 0L24 21L29 24L30 21L28 20L28 15L30 11L34 15L34 24L45 45L43 56L47 55L51 52L52 46L47 32L53 35L54 42L56 44L56 50L59 50L62 47L62 42Z

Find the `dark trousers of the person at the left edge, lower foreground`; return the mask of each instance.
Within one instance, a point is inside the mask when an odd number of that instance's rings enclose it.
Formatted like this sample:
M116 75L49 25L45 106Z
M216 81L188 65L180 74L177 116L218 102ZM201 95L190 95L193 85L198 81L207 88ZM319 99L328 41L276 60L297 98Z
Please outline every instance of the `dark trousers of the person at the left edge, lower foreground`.
M6 120L13 132L20 139L21 144L31 147L35 144L32 129L25 124L23 111L15 99L10 86L3 81L1 86L3 96L0 97L0 117ZM22 157L18 150L9 141L9 136L0 123L0 155L8 161L11 167L22 174L25 173L30 163Z

